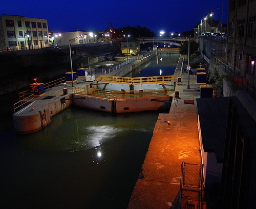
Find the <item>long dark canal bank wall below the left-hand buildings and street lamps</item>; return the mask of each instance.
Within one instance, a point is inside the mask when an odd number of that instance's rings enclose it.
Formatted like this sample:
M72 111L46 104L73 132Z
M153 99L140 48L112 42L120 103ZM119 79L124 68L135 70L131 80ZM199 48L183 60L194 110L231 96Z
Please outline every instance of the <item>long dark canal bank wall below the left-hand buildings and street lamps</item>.
M91 47L72 45L73 70L81 67L81 64L83 67L88 67L88 57L90 64L103 61L104 57L97 57L95 54L112 52L117 48L118 45L112 43L97 44ZM0 54L0 69L0 95L29 88L29 84L35 77L38 82L47 83L54 78L65 77L65 73L71 71L69 47L62 47L61 50L45 48L3 52Z

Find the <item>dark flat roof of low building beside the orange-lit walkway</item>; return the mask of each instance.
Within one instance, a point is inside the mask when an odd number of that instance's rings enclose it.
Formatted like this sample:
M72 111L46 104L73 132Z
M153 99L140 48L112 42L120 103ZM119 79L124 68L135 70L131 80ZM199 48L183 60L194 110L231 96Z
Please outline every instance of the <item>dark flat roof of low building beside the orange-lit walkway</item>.
M237 106L243 131L250 138L250 145L256 148L256 122L237 97L197 99L203 149L214 152L218 162L223 162L229 100Z

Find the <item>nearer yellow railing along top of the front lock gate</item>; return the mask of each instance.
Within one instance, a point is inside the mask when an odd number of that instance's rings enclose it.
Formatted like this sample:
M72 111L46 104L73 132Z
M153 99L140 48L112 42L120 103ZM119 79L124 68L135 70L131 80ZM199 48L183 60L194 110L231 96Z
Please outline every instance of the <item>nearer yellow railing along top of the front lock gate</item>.
M94 88L75 87L73 94L81 97L98 98L104 100L135 100L135 99L154 99L169 95L169 89L144 89L144 90L123 90L112 91Z

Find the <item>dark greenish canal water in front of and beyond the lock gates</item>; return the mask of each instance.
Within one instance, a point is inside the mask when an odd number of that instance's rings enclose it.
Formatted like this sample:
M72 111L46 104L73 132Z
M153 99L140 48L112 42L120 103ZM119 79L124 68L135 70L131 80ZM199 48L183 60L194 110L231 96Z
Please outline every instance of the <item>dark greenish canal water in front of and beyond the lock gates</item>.
M177 59L162 67L176 66ZM159 112L71 107L45 129L18 135L11 118L16 98L16 92L0 98L0 208L127 207Z

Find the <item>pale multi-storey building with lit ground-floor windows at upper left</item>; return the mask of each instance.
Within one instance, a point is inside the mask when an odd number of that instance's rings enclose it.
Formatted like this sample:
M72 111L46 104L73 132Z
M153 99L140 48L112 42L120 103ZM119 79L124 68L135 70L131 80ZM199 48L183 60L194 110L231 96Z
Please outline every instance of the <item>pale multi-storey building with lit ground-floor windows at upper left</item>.
M46 19L18 15L0 17L0 50L41 49L49 47Z

